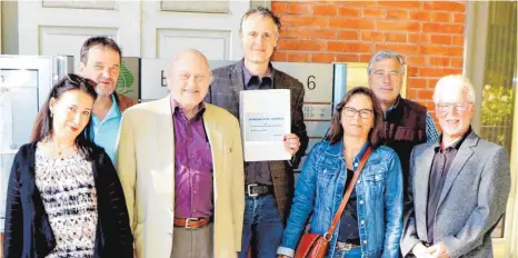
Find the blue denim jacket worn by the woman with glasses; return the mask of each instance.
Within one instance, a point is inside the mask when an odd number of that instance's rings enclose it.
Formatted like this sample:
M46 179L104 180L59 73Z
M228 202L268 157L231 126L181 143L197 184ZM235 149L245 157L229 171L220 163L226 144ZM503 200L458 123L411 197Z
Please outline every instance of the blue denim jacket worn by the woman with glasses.
M297 182L282 244L277 250L279 255L295 256L311 212L311 232L323 235L329 229L347 183L342 146L342 141L336 145L319 142L309 153ZM355 170L367 147L368 143L352 161ZM362 257L399 257L402 191L402 171L397 153L385 146L373 149L356 183ZM339 228L338 222L327 257L335 254Z

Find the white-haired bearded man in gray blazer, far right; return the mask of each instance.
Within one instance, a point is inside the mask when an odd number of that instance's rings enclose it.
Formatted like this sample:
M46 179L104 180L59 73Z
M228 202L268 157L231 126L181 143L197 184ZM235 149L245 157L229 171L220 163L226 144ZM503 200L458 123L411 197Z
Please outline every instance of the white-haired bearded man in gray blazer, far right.
M442 135L412 150L414 206L405 216L401 252L492 257L491 231L510 190L507 150L471 130L475 92L462 76L440 79L434 102Z

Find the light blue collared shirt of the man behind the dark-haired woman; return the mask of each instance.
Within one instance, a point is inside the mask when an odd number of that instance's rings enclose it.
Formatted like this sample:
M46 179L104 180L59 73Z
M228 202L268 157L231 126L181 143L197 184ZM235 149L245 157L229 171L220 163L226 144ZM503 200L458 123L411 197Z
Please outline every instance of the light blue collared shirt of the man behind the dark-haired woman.
M108 110L104 119L101 121L96 115L92 113L92 123L90 126L93 132L93 142L104 148L104 151L116 162L116 141L119 133L120 119L122 115L117 103L114 95L111 95L111 108Z

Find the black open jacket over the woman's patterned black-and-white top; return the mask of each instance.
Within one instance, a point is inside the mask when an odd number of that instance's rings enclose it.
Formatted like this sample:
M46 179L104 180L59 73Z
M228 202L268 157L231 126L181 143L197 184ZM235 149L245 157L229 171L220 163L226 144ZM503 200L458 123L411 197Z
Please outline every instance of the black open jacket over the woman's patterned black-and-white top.
M6 258L46 257L56 247L34 179L37 142L20 148L12 163L6 206ZM94 147L92 171L97 190L98 224L94 257L133 257L124 195L117 171L102 148Z

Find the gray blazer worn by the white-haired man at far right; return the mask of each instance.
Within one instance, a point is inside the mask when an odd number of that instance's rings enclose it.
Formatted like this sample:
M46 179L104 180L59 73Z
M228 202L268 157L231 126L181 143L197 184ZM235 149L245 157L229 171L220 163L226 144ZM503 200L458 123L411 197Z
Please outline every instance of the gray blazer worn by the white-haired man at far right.
M428 142L410 156L410 200L405 212L401 252L428 241L428 179L435 148ZM510 190L507 150L471 132L460 146L446 177L435 216L434 240L444 241L450 257L492 257L491 231L506 211Z

